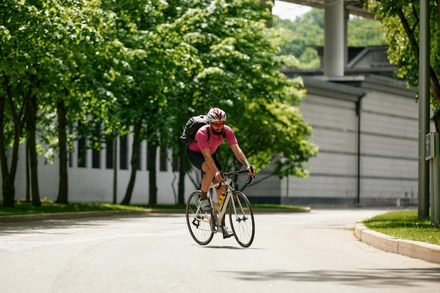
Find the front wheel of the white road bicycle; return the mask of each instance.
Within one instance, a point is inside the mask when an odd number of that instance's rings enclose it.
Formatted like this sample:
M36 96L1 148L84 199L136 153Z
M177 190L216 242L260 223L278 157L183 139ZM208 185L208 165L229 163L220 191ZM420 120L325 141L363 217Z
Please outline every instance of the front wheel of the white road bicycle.
M250 247L254 241L254 213L246 195L235 190L229 202L229 220L235 240L242 247Z

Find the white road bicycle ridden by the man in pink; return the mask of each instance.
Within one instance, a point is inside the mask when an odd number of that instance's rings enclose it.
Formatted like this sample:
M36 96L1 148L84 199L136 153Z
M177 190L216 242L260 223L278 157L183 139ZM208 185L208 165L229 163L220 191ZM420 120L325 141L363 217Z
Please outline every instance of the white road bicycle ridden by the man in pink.
M207 245L211 242L214 234L222 231L224 217L228 211L235 240L242 247L250 247L255 234L254 213L246 195L240 190L235 190L233 180L238 174L247 172L247 170L227 172L223 174L225 179L223 182L211 184L207 196L211 202L212 211L203 211L200 207L200 190L195 190L190 194L186 202L186 223L195 242L200 245ZM251 182L252 177L250 176L246 184ZM219 189L221 185L225 185L226 190L217 202L213 189Z

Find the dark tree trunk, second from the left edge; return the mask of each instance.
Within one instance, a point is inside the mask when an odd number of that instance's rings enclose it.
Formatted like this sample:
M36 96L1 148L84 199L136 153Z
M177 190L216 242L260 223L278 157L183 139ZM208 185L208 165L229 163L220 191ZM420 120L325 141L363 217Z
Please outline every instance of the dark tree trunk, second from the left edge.
M32 95L27 107L27 128L29 131L29 148L30 148L30 174L31 174L31 190L32 205L41 206L38 188L38 159L37 159L37 139L36 139L36 123L37 123L37 96Z

